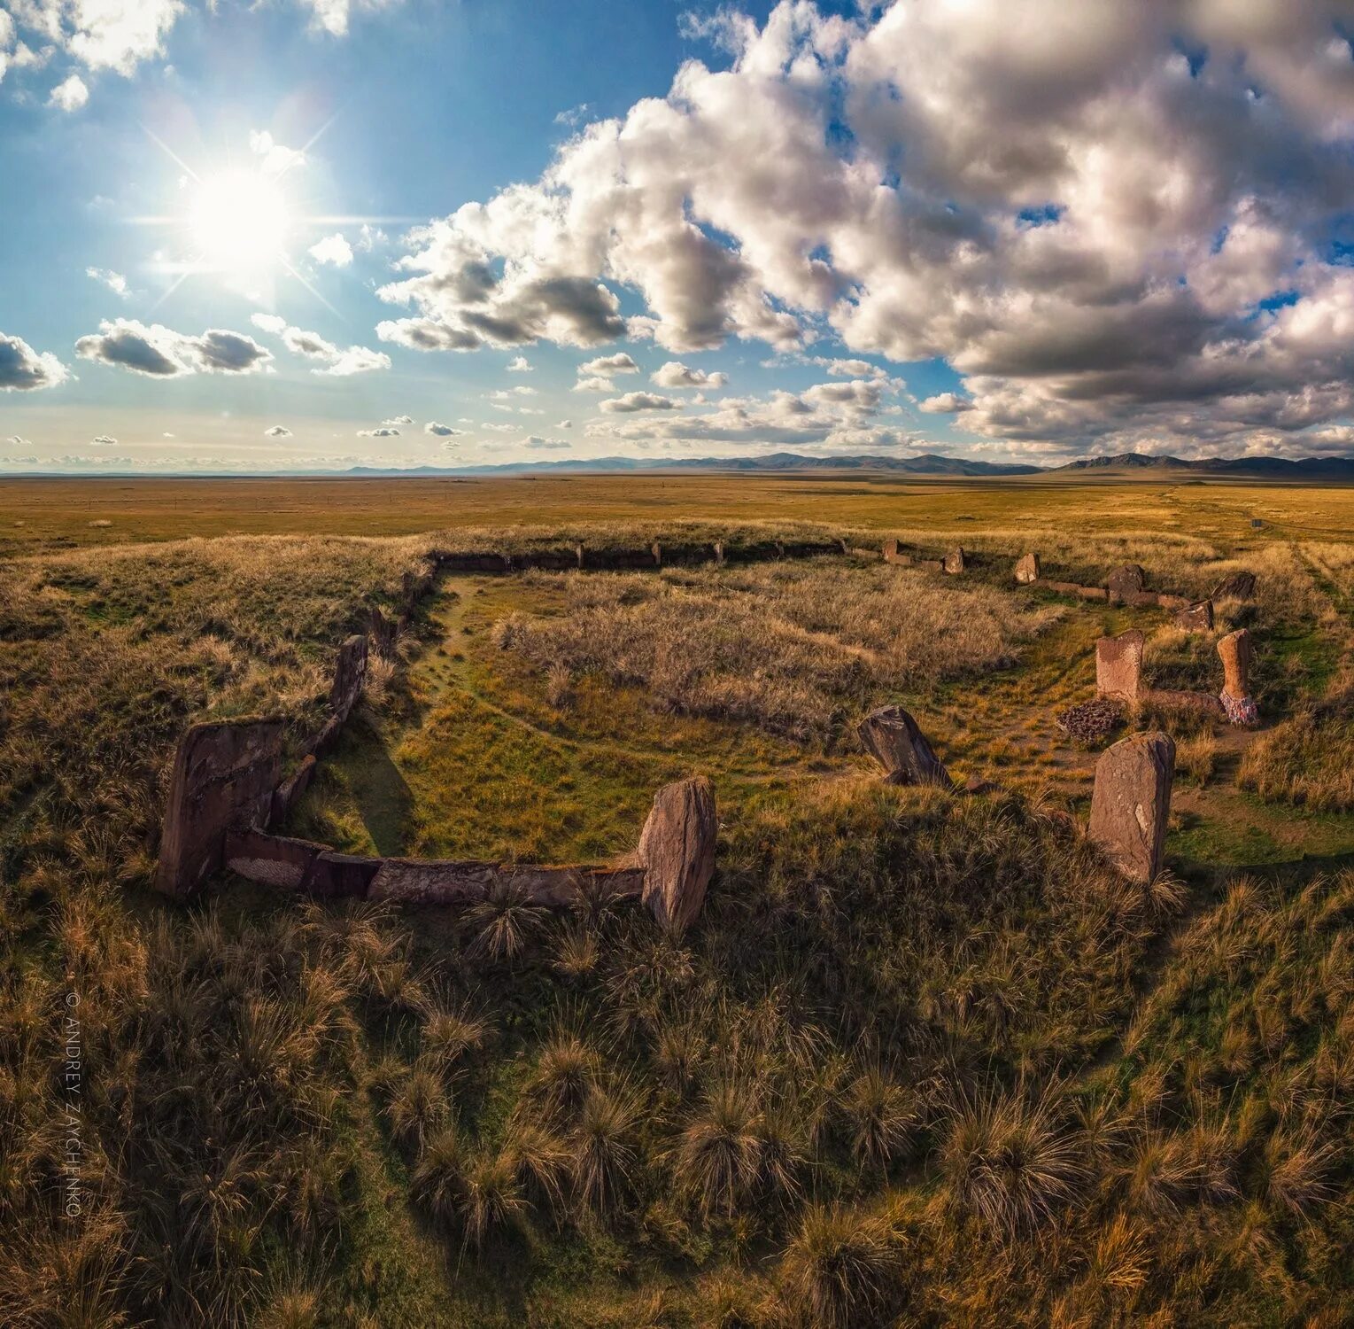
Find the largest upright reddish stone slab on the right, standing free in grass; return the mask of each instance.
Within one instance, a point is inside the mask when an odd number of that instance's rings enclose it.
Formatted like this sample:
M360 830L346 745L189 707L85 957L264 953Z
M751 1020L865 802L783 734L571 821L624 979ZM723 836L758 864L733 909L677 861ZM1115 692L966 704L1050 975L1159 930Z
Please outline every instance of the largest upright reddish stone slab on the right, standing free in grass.
M1150 882L1162 868L1174 778L1169 734L1122 738L1095 763L1090 837L1135 882Z

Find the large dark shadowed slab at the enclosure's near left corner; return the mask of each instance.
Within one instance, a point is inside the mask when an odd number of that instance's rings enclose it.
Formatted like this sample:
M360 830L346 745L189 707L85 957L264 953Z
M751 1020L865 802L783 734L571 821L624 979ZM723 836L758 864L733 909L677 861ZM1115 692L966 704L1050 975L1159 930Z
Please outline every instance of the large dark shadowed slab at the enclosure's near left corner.
M194 725L175 756L156 887L195 891L222 866L226 830L267 820L280 776L280 719Z

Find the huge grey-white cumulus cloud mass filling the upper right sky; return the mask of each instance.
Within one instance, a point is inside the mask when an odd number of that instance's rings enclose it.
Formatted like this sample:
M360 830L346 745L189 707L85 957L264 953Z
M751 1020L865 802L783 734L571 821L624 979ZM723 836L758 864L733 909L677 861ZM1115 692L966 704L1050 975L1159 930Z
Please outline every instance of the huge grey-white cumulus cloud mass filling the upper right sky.
M643 306L626 331L674 352L830 332L846 354L827 377L945 360L965 428L1013 444L1296 444L1354 413L1331 245L1354 210L1347 18L1343 0L726 12L707 35L728 68L686 61L535 183L420 228L380 294L462 343L596 344L620 289Z

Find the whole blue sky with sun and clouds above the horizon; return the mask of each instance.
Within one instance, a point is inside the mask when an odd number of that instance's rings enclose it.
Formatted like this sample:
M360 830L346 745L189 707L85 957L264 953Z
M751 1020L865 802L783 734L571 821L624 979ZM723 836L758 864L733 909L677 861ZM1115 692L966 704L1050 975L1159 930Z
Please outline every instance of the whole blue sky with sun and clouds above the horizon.
M1354 455L1354 0L0 0L0 473Z

